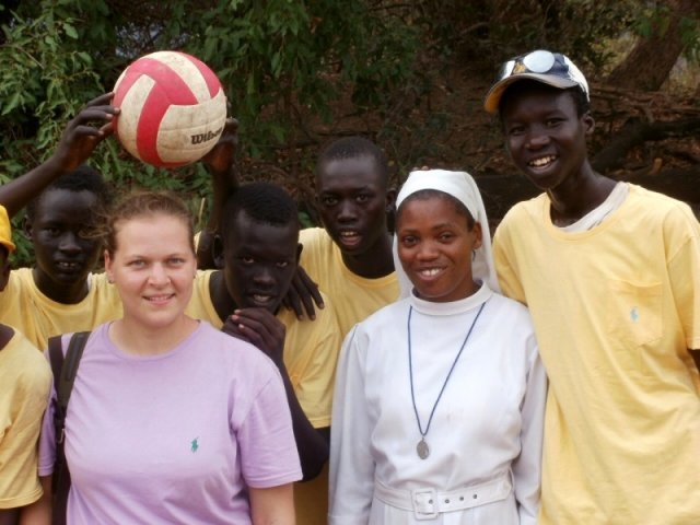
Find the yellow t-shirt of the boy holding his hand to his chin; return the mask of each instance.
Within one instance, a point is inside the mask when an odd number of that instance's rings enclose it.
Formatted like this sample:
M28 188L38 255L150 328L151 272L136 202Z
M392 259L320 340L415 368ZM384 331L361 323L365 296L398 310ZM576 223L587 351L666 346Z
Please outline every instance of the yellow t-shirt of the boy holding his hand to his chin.
M209 293L209 280L213 271L197 272L192 299L186 313L221 328L223 320L217 314ZM324 301L326 307L316 312L315 320L299 320L291 311L283 308L277 314L287 328L284 366L299 404L316 429L330 427L336 363L341 343L332 303L326 296ZM328 465L311 481L295 483L294 504L296 523L300 525L327 523Z

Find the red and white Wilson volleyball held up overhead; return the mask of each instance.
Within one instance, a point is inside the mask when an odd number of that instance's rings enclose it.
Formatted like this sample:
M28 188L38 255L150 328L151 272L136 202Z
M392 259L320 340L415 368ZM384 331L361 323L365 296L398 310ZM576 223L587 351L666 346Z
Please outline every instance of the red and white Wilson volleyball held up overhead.
M201 60L179 51L158 51L133 61L114 86L121 113L115 132L137 159L162 167L184 166L205 156L226 120L226 96Z

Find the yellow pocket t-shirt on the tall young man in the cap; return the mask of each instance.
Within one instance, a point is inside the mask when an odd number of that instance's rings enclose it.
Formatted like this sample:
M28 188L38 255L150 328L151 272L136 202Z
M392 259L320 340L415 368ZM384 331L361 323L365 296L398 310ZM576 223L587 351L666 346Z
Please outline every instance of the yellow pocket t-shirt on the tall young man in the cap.
M700 523L700 226L630 185L592 230L542 195L494 236L503 292L530 310L549 375L538 523Z

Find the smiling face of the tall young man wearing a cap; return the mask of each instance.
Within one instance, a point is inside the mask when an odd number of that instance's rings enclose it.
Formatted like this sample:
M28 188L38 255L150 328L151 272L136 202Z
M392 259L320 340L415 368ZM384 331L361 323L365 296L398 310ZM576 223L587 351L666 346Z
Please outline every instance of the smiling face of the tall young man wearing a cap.
M515 83L502 98L500 115L511 159L535 186L556 191L582 174L594 121L587 112L578 114L571 92Z

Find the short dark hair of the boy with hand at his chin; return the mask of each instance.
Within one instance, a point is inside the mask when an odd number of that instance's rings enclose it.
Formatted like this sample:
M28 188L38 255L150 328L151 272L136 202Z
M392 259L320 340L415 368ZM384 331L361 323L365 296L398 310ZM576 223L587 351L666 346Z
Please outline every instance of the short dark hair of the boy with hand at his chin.
M222 233L231 230L233 221L242 211L264 224L299 224L299 211L294 199L283 188L270 183L245 184L229 197L223 207Z

